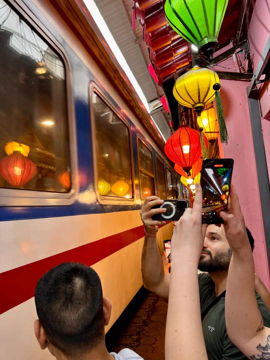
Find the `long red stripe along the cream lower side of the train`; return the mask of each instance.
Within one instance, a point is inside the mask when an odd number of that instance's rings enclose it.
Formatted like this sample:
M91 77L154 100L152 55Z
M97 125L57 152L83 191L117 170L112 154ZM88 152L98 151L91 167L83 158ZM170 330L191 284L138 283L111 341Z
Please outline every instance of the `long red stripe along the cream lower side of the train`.
M143 236L144 227L141 225L1 273L0 314L33 297L37 280L51 267L67 261L91 266Z

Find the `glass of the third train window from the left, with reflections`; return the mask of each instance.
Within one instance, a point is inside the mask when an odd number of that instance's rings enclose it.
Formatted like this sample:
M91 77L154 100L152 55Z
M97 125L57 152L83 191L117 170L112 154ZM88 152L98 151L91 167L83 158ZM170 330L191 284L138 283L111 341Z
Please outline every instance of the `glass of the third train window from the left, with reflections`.
M152 152L138 139L141 199L154 194L154 171Z

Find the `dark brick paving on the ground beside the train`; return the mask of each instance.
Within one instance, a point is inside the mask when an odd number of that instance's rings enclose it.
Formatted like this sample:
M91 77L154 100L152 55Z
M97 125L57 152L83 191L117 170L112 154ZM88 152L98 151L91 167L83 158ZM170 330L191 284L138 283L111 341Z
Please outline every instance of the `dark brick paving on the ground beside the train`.
M165 360L165 328L168 304L153 293L148 294L111 351L128 347L144 360Z

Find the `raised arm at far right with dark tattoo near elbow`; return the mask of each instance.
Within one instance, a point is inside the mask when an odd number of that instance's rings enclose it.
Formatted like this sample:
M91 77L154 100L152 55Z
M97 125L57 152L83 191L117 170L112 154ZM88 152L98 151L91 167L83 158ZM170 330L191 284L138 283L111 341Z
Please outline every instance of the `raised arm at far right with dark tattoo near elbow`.
M231 186L230 211L220 213L225 221L226 238L233 250L225 297L225 320L231 342L248 358L265 359L270 356L270 329L258 309L254 282L255 269L244 216L238 196Z

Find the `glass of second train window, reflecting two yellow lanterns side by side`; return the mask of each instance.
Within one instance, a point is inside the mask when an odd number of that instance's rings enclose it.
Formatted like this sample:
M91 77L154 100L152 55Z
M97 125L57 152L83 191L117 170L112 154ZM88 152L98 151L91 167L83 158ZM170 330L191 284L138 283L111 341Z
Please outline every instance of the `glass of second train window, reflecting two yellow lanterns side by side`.
M132 199L129 129L95 93L92 104L98 191L103 196Z

